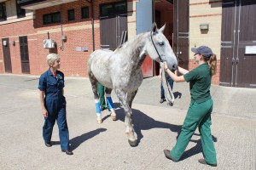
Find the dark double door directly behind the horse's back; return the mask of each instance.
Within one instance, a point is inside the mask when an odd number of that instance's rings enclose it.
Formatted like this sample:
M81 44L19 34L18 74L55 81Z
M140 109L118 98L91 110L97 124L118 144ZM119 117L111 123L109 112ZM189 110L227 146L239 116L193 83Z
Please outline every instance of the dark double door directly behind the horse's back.
M114 50L127 39L127 7L125 2L101 5L101 48Z

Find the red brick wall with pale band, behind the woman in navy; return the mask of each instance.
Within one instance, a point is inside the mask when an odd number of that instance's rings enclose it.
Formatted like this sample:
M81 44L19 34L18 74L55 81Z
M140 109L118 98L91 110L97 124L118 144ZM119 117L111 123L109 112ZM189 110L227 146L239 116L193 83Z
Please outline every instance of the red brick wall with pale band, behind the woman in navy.
M99 6L101 3L118 2L119 0L98 0L94 1L94 24L95 24L95 48L100 48L100 28L99 28ZM81 19L81 8L89 7L89 18ZM67 20L67 10L74 9L75 20ZM63 35L67 36L67 41L63 42L61 49L61 23L44 25L43 15L61 11ZM14 74L22 74L20 64L20 36L27 36L28 52L30 62L30 74L40 75L48 69L46 64L46 55L49 49L44 48L44 39L55 40L56 48L51 50L61 55L61 71L66 76L87 77L87 60L93 51L92 30L91 30L91 8L90 3L84 0L73 3L64 3L62 5L42 8L36 10L35 20L26 20L12 24L0 26L0 37L9 37L9 41L15 41L15 46L10 46L10 55L12 62L12 71ZM43 33L42 33L43 32ZM3 47L0 45L0 73L4 73ZM87 47L87 52L76 51L76 48Z

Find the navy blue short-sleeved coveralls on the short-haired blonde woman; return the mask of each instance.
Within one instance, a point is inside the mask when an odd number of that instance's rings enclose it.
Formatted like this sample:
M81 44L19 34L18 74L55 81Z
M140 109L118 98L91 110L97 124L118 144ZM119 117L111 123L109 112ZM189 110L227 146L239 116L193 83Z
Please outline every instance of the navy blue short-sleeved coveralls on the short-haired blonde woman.
M46 143L50 142L56 120L59 127L61 150L69 150L66 99L63 96L64 74L61 71L56 73L57 77L54 77L48 70L39 78L38 88L44 91L44 106L48 111L48 117L44 117L43 137Z

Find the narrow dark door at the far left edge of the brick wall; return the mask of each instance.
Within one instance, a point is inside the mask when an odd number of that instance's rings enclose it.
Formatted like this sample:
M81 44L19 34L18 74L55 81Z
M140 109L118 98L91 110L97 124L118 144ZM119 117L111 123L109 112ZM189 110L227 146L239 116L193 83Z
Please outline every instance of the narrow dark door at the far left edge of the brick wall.
M3 38L2 44L3 44L4 69L5 69L5 72L11 73L12 62L11 62L10 53L9 53L9 38Z

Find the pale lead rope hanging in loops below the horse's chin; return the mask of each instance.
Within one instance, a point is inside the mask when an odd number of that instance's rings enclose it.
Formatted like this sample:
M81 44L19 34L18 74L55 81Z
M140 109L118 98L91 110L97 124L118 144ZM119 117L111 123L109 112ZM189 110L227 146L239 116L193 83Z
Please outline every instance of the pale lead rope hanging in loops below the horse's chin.
M163 88L165 90L166 101L168 102L169 105L173 105L174 95L172 93L172 88L170 87L170 84L166 80L166 71L165 71L164 64L161 63L160 66L162 68L162 73L161 73L162 79L161 79L161 81L162 81Z

